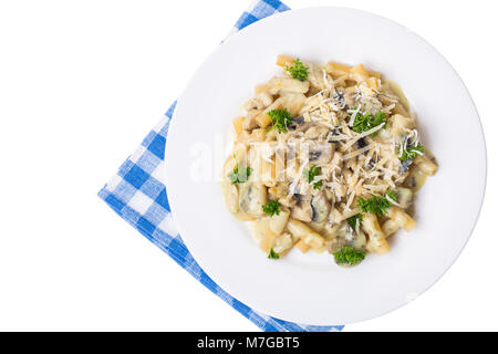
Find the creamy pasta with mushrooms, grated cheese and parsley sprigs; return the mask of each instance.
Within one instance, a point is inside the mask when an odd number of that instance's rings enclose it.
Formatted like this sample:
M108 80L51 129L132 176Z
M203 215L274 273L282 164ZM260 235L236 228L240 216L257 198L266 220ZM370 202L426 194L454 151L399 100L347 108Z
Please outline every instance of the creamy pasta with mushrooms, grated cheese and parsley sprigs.
M295 246L347 267L388 252L388 238L415 228L415 194L438 168L403 91L363 64L277 64L283 75L258 85L232 121L228 211L270 259Z

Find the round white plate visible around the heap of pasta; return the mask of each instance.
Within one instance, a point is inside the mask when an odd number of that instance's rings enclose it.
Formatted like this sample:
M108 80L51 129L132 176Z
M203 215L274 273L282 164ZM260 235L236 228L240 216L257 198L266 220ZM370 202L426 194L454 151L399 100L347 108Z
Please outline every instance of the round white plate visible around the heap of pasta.
M364 63L406 92L423 143L440 169L418 195L417 227L396 235L388 254L371 254L353 269L336 267L330 254L299 251L268 260L246 226L226 210L215 180L230 143L222 138L253 87L280 72L278 54L318 63ZM405 28L340 8L276 14L225 41L178 101L166 160L175 221L207 274L255 310L315 325L372 319L427 290L467 242L486 185L479 117L452 66Z

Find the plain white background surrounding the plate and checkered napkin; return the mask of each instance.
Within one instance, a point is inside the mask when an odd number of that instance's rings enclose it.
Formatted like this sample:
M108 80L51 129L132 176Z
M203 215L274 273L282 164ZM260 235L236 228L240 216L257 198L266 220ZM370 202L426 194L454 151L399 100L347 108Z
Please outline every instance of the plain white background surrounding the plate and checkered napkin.
M488 132L487 196L460 258L414 302L345 331L498 330L495 2L286 2L417 32L461 75ZM0 330L258 331L96 197L248 6L0 0Z

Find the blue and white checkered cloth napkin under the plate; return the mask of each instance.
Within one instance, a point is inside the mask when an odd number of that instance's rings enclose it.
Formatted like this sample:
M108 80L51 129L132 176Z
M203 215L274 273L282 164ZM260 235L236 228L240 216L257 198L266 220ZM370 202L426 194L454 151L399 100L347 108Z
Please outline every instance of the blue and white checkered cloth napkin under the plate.
M289 8L278 0L259 0L237 21L232 32ZM166 187L160 181L169 121L176 102L142 145L120 167L120 170L98 192L114 211L147 239L169 254L179 266L220 296L235 310L263 331L341 331L343 326L311 326L286 322L256 312L218 287L197 264L185 247L173 222Z

